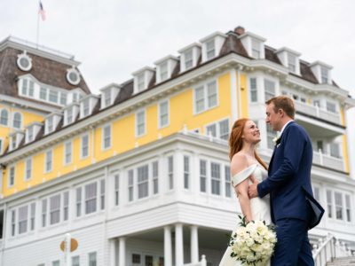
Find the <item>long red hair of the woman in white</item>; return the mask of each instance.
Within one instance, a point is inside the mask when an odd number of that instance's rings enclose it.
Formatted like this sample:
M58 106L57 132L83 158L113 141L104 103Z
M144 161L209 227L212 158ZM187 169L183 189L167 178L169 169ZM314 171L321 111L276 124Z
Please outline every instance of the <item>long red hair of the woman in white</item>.
M233 155L241 151L243 147L243 140L241 136L243 135L243 130L247 121L250 121L248 118L241 118L234 122L231 134L229 136L229 159L232 160ZM263 160L257 155L254 151L256 160L267 170L267 166Z

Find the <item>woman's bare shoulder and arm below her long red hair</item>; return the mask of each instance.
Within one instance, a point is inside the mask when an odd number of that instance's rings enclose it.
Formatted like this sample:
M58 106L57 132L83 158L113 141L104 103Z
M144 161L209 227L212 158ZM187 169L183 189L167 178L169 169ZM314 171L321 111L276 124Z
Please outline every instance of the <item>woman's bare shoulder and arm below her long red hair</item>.
M235 174L240 173L245 168L248 168L248 160L244 155L235 154L231 161L231 172L234 176ZM237 184L234 187L234 190L239 199L241 205L241 212L246 216L247 222L253 220L250 209L250 200L248 197L248 178L242 181L240 184Z

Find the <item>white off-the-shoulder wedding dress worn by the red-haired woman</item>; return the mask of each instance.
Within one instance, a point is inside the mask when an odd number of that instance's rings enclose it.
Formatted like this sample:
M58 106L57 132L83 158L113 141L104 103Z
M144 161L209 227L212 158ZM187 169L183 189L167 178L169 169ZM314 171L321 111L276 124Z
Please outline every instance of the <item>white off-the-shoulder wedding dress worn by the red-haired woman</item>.
M248 168L245 168L238 174L232 177L232 184L236 186L240 184L242 181L248 178L248 176L253 175L254 178L261 182L264 178L267 177L266 170L259 164L252 164ZM250 182L250 181L249 181ZM270 214L270 200L268 196L265 196L263 199L253 198L250 200L250 209L253 220L264 220L267 224L272 223L271 214ZM235 224L237 227L237 224ZM236 228L233 228L235 231ZM225 254L221 262L219 262L219 266L238 266L242 265L241 262L235 260L235 258L231 257L232 247L228 246L225 250ZM245 265L245 264L244 264ZM270 265L270 262L265 262L264 266Z

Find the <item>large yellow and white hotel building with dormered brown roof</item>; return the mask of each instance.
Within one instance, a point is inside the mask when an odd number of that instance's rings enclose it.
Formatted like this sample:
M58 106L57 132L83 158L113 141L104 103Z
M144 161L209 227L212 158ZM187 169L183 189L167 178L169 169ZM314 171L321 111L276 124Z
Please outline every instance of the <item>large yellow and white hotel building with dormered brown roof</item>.
M237 27L162 56L91 94L73 56L9 37L0 43L0 265L215 266L241 213L227 138L249 117L272 155L264 101L295 99L313 141L312 185L325 207L312 243L355 249L355 180L346 110L332 66L274 49Z

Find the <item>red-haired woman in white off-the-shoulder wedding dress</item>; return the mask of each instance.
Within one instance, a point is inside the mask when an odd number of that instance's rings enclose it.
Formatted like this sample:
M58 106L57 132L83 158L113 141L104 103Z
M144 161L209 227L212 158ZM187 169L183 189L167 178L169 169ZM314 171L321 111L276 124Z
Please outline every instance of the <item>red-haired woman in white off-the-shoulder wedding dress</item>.
M233 124L229 137L232 184L241 205L241 212L246 222L264 220L271 223L269 198L248 198L250 178L258 181L267 177L267 166L256 153L256 144L260 142L260 131L254 121L242 118ZM235 228L234 228L235 230ZM219 262L219 266L238 266L241 262L231 256L232 247L228 246ZM264 263L270 265L270 261Z

